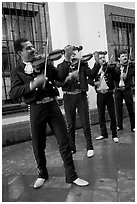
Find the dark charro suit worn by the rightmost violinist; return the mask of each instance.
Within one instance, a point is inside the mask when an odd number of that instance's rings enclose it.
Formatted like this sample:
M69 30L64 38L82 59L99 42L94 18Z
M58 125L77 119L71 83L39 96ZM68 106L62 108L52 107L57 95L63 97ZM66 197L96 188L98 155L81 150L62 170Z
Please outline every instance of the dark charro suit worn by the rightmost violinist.
M115 82L115 104L116 104L116 116L117 116L117 126L123 129L123 99L128 110L131 130L135 128L135 113L133 106L133 77L135 76L135 64L127 63L123 67L123 72L127 75L124 79L124 87L119 86L120 82L120 68L121 65L117 64L115 70L119 76L119 80Z

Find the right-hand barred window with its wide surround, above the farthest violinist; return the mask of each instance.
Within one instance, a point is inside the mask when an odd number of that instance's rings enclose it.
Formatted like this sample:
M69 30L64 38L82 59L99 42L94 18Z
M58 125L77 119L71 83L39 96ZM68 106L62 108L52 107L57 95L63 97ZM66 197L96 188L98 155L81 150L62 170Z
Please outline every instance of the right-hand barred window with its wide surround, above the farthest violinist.
M124 48L135 58L135 11L104 5L109 59L117 61L117 52Z

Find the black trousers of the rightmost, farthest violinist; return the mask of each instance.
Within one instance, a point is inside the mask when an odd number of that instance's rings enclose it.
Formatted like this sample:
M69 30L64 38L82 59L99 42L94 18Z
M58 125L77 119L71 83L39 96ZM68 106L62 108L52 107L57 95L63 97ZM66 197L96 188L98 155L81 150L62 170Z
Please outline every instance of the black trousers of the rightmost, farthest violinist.
M132 89L115 90L115 104L116 104L116 116L117 116L117 126L123 128L123 100L128 110L131 130L135 128L135 113L133 106L133 91Z

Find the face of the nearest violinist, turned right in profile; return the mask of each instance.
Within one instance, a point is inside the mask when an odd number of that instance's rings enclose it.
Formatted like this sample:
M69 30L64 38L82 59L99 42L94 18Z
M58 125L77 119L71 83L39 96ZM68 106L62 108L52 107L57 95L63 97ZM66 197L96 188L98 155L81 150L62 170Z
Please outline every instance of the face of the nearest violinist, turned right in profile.
M30 41L22 43L23 49L19 51L19 55L24 62L31 62L35 56L35 48Z

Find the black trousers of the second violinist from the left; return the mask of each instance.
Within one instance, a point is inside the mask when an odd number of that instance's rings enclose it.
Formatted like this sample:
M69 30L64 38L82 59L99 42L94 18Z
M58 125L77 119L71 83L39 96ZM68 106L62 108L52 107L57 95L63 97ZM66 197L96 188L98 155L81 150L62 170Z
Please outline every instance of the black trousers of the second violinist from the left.
M75 145L75 122L76 122L76 109L79 114L79 118L83 127L86 148L87 150L93 149L92 137L91 137L91 127L89 120L89 108L87 101L87 94L64 94L64 109L66 113L66 119L68 124L68 137L70 141L71 149L76 149Z

